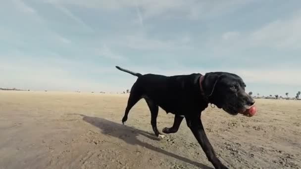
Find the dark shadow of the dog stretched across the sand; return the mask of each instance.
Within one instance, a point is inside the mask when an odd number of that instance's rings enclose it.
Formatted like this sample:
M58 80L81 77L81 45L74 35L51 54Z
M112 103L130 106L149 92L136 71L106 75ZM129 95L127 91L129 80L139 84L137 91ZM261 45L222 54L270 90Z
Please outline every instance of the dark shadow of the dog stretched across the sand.
M85 116L82 114L72 114L72 115L80 115L83 117L83 120L87 123L90 123L91 125L100 128L101 133L106 134L106 135L110 135L119 139L122 139L123 141L125 141L128 144L131 145L140 145L143 147L146 147L152 151L156 151L158 153L162 153L166 156L170 156L173 157L175 159L181 160L183 162L189 163L191 165L195 165L198 166L202 169L212 169L211 167L208 167L206 165L203 165L201 163L198 162L194 162L190 159L187 159L185 157L181 157L179 155L173 154L171 152L168 152L166 150L160 149L158 147L154 147L151 144L145 143L140 141L137 136L139 134L144 135L150 139L153 140L158 140L157 137L154 136L154 134L151 134L149 132L134 128L134 127L128 127L128 126L124 126L122 124L118 124L115 122L111 122L108 121L106 119L102 119L99 117L89 117L89 116Z

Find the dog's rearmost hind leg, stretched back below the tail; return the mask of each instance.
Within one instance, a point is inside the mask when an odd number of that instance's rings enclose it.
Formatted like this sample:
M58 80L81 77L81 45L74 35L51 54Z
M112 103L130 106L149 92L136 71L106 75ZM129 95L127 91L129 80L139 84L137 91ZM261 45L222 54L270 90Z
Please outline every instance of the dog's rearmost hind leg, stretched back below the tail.
M137 86L136 86L137 87ZM130 96L128 99L128 104L125 108L124 116L122 118L122 124L124 124L128 120L128 115L131 110L131 108L142 98L142 95L140 92L138 92L138 88L135 88L135 84L133 85Z

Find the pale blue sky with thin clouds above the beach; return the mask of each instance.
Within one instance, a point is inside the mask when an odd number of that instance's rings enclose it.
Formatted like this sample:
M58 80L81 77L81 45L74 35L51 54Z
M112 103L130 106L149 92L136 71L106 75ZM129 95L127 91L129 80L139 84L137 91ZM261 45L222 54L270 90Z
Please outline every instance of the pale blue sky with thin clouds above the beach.
M300 0L1 0L0 87L122 91L136 78L236 73L301 90Z

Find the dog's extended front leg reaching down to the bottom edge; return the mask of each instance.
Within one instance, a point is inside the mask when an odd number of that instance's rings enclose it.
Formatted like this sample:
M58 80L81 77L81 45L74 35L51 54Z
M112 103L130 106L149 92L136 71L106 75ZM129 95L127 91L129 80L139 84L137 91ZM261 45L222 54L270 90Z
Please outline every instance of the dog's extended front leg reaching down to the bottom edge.
M201 145L201 148L205 152L208 160L212 163L214 168L228 169L216 157L213 147L206 136L200 117L185 117L185 118L186 118L187 126L191 129L191 131L197 138L199 144Z

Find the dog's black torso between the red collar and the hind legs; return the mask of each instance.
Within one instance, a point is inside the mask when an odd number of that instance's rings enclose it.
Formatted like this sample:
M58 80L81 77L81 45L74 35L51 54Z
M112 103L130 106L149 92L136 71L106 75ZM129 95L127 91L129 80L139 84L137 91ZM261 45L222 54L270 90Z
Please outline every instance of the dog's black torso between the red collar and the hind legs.
M166 112L174 114L187 111L191 104L200 104L201 91L198 87L200 77L201 74L176 76L146 74L137 79L135 87L141 90L144 97L150 98Z

